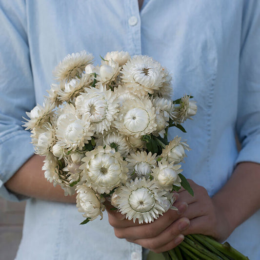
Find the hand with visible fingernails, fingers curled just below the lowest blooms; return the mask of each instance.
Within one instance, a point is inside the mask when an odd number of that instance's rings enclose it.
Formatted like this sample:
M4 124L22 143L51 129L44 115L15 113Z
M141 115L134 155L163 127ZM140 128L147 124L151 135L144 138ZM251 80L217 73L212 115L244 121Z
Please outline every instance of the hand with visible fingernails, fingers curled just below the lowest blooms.
M179 209L178 211L168 210L154 222L143 224L125 219L125 215L110 210L112 206L107 204L109 223L114 227L116 237L140 244L156 253L167 251L180 244L184 239L181 232L189 226L190 221L181 218L187 209L187 203L178 201L178 193L175 196L177 201L174 206Z

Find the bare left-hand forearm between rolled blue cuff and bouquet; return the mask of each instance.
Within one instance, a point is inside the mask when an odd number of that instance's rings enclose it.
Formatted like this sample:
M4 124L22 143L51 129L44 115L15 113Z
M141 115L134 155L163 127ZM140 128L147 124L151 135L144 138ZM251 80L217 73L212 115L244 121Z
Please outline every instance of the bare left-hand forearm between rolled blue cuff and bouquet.
M34 155L5 183L12 192L41 200L75 203L76 195L64 196L60 185L48 182L41 170L44 157Z

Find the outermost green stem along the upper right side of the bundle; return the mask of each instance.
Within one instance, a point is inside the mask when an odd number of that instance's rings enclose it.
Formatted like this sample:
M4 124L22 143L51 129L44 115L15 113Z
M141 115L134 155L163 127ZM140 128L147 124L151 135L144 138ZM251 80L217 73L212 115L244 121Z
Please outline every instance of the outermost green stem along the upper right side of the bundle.
M193 235L193 236L195 236L195 235ZM221 243L217 242L216 240L214 240L210 237L200 235L200 234L196 234L195 237L197 237L197 236L199 236L200 238L202 238L205 241L207 241L208 243L210 243L212 246L214 246L216 249L218 249L220 252L222 252L223 254L225 254L228 257L231 257L235 260L249 260L248 257L241 254L239 251L237 251L235 248L233 248L227 242L225 242L224 244L221 244Z

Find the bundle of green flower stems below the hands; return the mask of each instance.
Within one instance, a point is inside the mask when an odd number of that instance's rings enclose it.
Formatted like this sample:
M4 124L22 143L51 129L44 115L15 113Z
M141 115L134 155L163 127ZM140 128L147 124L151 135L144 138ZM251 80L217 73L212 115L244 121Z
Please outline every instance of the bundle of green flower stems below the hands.
M163 253L165 260L249 260L228 242L223 244L211 237L193 234L174 249Z

